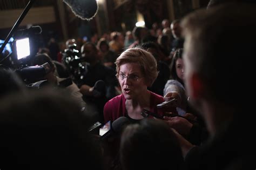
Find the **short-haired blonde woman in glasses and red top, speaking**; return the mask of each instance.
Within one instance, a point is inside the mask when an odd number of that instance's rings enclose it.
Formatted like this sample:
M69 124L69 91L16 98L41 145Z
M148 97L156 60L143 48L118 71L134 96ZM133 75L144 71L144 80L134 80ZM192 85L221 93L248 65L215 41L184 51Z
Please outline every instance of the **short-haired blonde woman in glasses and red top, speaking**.
M164 98L149 90L156 80L157 62L151 53L135 47L125 50L116 60L117 78L122 94L109 100L104 107L104 120L125 116L133 121L143 119L143 109L163 114L156 107Z

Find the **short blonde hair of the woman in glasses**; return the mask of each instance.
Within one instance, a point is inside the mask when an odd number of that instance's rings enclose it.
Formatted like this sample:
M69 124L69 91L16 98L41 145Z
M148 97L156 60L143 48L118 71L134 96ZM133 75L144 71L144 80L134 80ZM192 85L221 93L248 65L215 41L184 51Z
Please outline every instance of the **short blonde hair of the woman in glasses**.
M117 74L119 76L120 66L126 63L137 63L140 66L140 70L146 79L146 83L151 86L158 76L157 61L151 55L139 47L125 50L116 60Z

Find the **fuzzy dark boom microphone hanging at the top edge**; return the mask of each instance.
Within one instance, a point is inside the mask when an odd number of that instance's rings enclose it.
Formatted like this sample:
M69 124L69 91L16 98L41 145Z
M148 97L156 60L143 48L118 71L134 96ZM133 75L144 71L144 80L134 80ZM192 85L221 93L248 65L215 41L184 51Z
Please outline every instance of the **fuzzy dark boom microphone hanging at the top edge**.
M69 5L72 12L81 19L90 21L98 11L98 3L95 0L63 0Z

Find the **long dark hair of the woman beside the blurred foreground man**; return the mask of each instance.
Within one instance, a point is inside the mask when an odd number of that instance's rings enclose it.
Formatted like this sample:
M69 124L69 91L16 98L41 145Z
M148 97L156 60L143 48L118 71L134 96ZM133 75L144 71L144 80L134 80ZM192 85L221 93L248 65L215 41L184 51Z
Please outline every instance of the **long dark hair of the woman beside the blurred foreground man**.
M170 79L174 79L174 80L178 80L181 84L184 85L184 82L183 80L181 80L178 75L177 75L177 72L176 72L176 62L179 58L182 59L182 54L183 54L183 49L177 49L175 52L174 52L174 55L173 55L173 58L172 58L172 62L171 62L171 65L170 65L170 71L171 71L171 77Z

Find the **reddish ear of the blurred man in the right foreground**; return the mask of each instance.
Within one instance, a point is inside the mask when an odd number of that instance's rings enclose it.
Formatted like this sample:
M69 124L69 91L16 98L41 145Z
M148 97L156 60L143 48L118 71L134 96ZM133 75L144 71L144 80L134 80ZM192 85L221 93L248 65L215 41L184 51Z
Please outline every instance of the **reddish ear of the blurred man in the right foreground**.
M191 95L193 98L198 99L203 97L205 87L202 79L197 73L193 73L190 79Z

